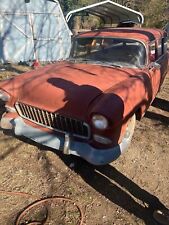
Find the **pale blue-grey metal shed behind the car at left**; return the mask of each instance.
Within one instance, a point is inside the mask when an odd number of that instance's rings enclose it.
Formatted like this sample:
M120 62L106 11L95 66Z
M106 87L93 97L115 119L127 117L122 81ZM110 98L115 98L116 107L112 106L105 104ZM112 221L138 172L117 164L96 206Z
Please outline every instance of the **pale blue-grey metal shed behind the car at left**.
M65 59L70 45L57 0L0 0L0 62Z

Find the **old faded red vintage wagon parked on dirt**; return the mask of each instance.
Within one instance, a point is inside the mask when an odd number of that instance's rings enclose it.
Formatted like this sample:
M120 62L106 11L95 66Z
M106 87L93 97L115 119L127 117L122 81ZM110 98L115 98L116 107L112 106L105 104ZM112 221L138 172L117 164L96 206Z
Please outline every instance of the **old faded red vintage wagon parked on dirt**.
M124 152L168 71L159 29L78 34L67 60L0 82L1 128L104 165Z

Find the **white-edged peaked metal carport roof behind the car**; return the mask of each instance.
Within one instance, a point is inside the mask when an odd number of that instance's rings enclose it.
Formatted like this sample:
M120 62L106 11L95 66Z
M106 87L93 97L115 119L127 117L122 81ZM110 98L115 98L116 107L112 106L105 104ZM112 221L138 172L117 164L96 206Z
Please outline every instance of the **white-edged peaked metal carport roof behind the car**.
M106 0L95 3L86 7L70 11L66 15L66 20L69 22L72 15L79 13L88 13L102 18L106 23L119 23L121 21L133 21L138 24L144 22L144 17L140 12L137 12L128 7L122 6L116 2Z

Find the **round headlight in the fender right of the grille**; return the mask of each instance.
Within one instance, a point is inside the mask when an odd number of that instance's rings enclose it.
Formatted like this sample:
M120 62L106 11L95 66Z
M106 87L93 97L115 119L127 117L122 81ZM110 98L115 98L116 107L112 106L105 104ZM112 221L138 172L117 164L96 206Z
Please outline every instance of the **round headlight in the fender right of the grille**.
M94 115L92 117L92 123L99 130L105 130L108 127L108 120L102 115Z

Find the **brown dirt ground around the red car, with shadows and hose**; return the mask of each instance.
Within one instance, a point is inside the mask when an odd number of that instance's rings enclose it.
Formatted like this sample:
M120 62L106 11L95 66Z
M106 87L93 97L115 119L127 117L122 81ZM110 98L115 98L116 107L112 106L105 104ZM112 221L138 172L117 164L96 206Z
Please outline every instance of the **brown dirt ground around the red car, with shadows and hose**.
M28 69L0 68L0 79ZM0 107L2 114L2 103ZM128 151L107 166L91 166L0 130L0 191L35 195L28 198L0 192L1 225L14 225L26 206L47 196L77 202L84 213L83 225L157 225L153 209L169 207L169 74L153 106L137 121ZM55 208L48 207L50 219L45 225L78 224L79 213L73 206L58 202ZM36 211L28 217L35 220L46 214L44 207L38 216Z

